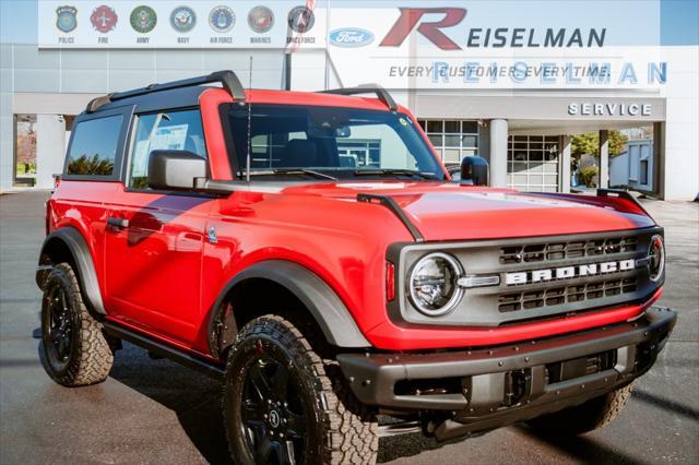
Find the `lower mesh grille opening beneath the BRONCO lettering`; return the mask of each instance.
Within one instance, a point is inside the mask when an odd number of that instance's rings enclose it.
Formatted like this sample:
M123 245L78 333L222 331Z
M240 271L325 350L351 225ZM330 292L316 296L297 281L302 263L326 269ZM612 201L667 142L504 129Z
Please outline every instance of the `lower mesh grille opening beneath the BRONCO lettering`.
M637 278L605 279L573 286L560 286L530 290L525 293L508 293L498 297L498 310L510 312L530 310L542 307L560 306L600 299L602 297L632 294L638 288Z

